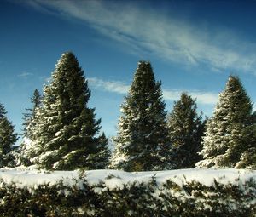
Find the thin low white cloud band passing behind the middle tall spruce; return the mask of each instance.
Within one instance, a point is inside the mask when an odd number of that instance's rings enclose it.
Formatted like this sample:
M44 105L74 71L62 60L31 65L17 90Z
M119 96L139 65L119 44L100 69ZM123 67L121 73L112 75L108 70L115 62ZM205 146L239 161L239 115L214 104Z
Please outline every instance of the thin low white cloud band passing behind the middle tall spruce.
M104 81L97 77L88 78L88 82L92 89L101 89L102 91L108 91L116 94L127 94L130 89L130 85L127 85L123 82ZM179 100L180 95L183 92L189 93L193 98L196 98L197 102L200 104L214 105L218 101L218 94L211 92L191 91L185 89L164 89L163 97L165 100Z

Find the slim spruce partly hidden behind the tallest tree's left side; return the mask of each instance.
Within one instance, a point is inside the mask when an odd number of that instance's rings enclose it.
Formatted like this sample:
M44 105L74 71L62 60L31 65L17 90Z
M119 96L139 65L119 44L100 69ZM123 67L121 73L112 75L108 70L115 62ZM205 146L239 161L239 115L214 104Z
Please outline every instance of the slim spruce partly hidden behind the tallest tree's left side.
M41 106L42 96L39 93L38 89L34 90L34 93L31 98L32 109L26 108L26 113L24 113L24 123L23 123L23 140L18 149L19 157L18 157L18 165L22 164L24 166L30 166L32 163L30 159L35 157L34 146L32 140L34 138L35 126L37 124L37 116L36 111Z

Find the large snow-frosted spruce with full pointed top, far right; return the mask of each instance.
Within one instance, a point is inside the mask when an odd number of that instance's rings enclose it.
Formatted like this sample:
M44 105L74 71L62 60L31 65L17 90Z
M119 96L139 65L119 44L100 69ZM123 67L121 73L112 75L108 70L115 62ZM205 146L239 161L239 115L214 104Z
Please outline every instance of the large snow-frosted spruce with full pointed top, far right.
M207 122L201 151L203 160L196 164L197 167L227 168L238 164L246 167L239 162L248 157L247 145L255 147L252 107L240 79L230 76L224 92L219 94L213 117Z

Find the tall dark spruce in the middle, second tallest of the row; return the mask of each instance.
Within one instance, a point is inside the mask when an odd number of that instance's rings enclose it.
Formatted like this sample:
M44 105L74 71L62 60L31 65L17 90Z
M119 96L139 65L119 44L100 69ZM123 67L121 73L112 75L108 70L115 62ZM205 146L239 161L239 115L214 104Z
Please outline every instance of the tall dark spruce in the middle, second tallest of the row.
M140 61L129 94L121 105L112 168L143 171L172 168L161 83L149 62Z

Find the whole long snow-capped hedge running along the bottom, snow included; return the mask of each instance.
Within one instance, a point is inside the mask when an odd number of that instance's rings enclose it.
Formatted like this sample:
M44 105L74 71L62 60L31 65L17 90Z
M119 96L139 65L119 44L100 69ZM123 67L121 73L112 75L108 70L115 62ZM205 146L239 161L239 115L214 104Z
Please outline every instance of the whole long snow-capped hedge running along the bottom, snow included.
M3 216L255 216L256 171L2 170Z

